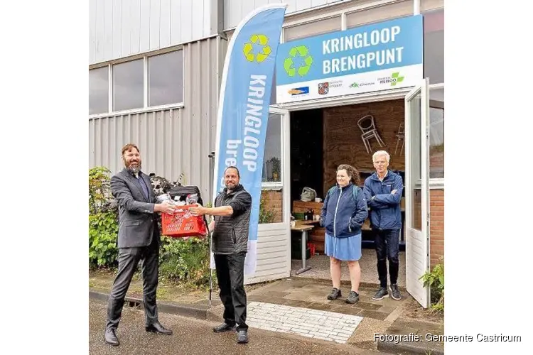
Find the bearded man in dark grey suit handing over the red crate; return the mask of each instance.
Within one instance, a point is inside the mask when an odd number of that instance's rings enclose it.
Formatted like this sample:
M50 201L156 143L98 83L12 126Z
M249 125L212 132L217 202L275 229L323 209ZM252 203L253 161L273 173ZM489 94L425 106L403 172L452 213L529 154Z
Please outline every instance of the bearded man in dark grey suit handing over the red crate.
M119 204L119 271L114 280L107 305L105 342L119 345L117 327L124 306L124 297L139 261L143 275L143 302L146 332L172 334L159 323L156 305L159 244L161 236L156 213L175 212L170 202L156 203L150 178L141 172L141 155L134 144L122 148L124 169L111 178L111 192Z

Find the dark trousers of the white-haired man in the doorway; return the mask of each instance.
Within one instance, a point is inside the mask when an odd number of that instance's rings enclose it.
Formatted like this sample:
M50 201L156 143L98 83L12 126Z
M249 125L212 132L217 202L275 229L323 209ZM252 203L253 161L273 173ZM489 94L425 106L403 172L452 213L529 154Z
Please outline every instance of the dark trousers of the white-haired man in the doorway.
M390 283L398 281L399 229L374 229L377 255L377 275L382 288L387 287L387 259Z

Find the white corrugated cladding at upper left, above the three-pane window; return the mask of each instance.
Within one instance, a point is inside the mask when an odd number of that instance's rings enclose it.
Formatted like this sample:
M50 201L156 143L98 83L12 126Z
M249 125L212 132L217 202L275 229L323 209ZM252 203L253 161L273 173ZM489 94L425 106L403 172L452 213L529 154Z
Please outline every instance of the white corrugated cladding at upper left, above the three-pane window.
M89 64L217 33L212 0L90 0L89 11Z

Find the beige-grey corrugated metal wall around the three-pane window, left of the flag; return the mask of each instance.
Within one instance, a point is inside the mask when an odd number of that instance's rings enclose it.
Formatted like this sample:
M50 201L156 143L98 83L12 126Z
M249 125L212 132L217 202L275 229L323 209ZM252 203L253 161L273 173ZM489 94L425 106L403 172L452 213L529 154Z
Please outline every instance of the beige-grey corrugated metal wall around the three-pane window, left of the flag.
M218 93L227 41L220 37L183 47L185 100L181 109L107 116L89 120L90 168L122 169L120 150L136 143L143 171L169 180L185 174L185 182L200 187L210 200L210 162L215 148Z

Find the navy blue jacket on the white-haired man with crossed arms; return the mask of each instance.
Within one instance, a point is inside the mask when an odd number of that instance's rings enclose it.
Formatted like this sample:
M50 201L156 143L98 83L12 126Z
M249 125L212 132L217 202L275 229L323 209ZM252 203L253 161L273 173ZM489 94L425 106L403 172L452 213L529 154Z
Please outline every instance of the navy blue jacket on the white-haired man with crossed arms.
M392 194L392 190L397 190ZM365 180L365 198L370 207L370 226L375 229L402 229L400 200L404 182L402 177L391 170L383 182L373 173Z

